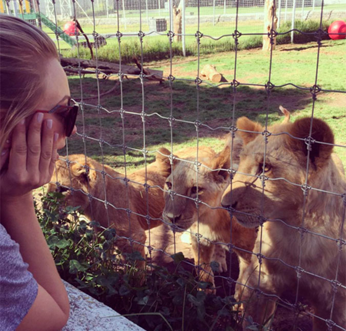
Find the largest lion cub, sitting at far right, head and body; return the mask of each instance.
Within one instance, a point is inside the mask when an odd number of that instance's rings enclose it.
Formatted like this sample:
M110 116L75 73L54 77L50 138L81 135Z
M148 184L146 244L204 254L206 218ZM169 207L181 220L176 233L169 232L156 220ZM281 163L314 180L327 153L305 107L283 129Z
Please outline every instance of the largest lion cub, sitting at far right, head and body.
M346 326L346 254L342 244L346 237L346 181L342 164L332 153L332 130L321 120L312 122L315 142L308 153L304 139L310 125L311 119L303 118L271 126L265 144L263 135L254 133L264 128L239 118L238 129L246 130L239 132L245 146L222 205L234 208L241 225L262 226L251 263L239 280L247 286L236 293L247 302L246 315L263 323L274 311L275 296L297 291L314 308L314 330L326 330L324 320ZM308 186L304 186L306 179ZM251 288L257 289L256 294Z

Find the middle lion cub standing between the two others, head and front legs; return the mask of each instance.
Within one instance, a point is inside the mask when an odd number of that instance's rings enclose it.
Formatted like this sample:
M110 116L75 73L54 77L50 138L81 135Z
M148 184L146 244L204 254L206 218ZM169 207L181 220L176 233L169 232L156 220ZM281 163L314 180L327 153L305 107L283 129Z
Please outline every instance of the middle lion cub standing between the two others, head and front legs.
M164 148L161 148L161 152L170 154ZM239 225L234 218L231 219L228 211L219 207L222 193L230 183L228 171L222 168L230 167L230 159L228 146L219 154L211 148L199 151L198 176L194 157L175 159L172 173L171 166L167 163L167 172L170 175L165 184L165 208L162 217L172 222L176 231L191 229L195 264L199 263L202 267L200 279L211 282L213 287L214 275L210 262L215 243L225 243L225 249L228 249L228 243L234 245L241 274L250 263L256 239L255 229ZM199 245L195 236L197 232L202 236ZM207 291L216 293L215 289Z

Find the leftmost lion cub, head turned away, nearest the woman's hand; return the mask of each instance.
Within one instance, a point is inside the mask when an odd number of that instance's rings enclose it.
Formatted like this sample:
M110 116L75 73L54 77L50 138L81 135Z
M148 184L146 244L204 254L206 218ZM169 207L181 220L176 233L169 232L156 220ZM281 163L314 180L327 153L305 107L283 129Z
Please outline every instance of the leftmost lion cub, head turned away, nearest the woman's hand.
M107 165L103 166L83 154L72 154L69 155L69 167L65 160L56 161L48 192L64 192L66 204L81 206L88 219L96 220L104 227L113 227L120 251L137 250L145 257L145 230L162 223L164 200L161 187L165 176L157 168L163 162L161 159L158 153L156 161L147 166L145 186L145 168L129 174L129 182L124 174ZM144 267L144 261L137 262L138 267Z

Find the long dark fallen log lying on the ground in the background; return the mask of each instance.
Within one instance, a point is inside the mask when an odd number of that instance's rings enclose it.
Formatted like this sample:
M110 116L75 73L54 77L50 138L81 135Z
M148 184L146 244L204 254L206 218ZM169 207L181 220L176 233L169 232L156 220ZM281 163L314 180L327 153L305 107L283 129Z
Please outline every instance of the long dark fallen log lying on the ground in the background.
M96 68L96 61L82 59L78 60L72 57L60 57L60 63L63 67L78 67L78 63L80 63L80 67L82 68ZM118 73L120 68L120 66L116 63L110 63L105 61L98 61L97 67L100 71L105 71L105 73ZM160 82L164 80L162 78L164 75L163 71L153 69L145 70L147 74L151 75L149 77L146 77L147 79L156 80ZM140 68L123 64L121 65L121 72L123 72L125 75L139 75L141 70Z

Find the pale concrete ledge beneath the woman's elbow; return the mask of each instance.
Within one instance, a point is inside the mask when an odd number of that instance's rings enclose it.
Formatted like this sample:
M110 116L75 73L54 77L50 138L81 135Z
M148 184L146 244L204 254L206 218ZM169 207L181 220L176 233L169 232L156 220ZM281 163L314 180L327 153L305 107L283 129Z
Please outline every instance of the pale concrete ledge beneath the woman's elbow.
M70 318L62 331L145 331L115 310L64 282L70 300Z

